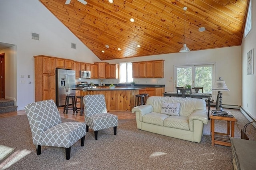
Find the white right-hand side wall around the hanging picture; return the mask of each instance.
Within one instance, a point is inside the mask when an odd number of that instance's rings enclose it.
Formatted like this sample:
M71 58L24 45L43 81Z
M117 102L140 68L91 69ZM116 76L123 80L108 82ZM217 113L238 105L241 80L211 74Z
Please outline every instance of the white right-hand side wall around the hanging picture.
M247 53L254 49L254 74L247 75ZM252 30L242 40L242 107L256 119L256 1L252 0Z

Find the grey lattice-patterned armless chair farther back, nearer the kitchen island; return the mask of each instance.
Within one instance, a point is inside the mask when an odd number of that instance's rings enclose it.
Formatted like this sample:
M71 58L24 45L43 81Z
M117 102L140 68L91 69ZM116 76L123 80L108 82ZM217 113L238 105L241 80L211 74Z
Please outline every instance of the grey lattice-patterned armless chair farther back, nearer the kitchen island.
M90 127L94 131L95 140L97 140L98 130L114 127L114 135L116 135L117 116L107 113L105 96L103 94L86 95L83 100L86 132Z

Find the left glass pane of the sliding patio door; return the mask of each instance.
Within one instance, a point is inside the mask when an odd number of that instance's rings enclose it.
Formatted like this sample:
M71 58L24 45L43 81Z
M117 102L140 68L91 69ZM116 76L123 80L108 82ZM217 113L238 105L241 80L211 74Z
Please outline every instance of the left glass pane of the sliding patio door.
M185 84L192 85L192 67L177 68L177 87L183 87Z

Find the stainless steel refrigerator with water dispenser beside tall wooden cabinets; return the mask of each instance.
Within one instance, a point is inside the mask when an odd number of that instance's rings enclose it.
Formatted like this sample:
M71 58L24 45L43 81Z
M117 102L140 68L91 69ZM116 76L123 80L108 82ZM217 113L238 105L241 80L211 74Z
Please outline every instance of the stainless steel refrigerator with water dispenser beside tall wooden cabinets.
M66 95L76 95L76 71L56 69L56 105L65 105ZM72 104L72 101L69 101Z

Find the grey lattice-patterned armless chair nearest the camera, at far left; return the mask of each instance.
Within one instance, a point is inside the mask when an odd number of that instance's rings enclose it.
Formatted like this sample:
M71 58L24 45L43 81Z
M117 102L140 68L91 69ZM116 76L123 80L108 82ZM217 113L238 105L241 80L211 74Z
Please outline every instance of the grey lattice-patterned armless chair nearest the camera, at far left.
M70 159L71 146L81 139L84 146L86 124L82 122L61 123L60 113L53 100L34 102L25 106L36 154L41 146L66 148L66 159Z

